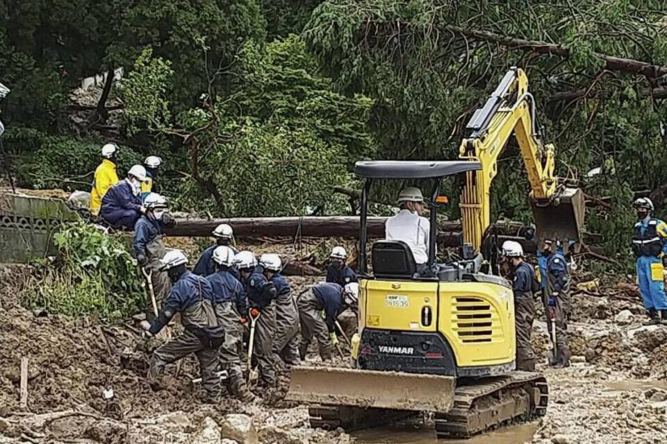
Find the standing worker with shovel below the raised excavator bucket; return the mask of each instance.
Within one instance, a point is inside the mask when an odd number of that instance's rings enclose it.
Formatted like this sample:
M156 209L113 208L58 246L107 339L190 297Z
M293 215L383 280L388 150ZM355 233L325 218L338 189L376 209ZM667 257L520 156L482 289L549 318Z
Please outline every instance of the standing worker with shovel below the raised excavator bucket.
M554 244L557 250L554 252ZM559 241L543 241L542 254L547 257L546 286L543 297L547 301L547 314L551 316L556 334L556 353L551 364L556 368L570 366L570 345L568 340L568 321L572 301L570 300L570 268L558 249Z

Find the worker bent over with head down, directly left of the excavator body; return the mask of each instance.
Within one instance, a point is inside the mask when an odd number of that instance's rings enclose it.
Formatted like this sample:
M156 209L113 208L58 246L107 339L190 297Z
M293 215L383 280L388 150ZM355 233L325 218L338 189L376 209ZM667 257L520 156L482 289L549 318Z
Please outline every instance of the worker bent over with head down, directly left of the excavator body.
M332 282L317 284L299 296L297 307L302 336L299 356L302 361L306 359L313 336L318 340L322 361L331 359L334 346L338 344L336 318L349 305L354 305L356 300L359 300L359 284L356 282L345 287Z

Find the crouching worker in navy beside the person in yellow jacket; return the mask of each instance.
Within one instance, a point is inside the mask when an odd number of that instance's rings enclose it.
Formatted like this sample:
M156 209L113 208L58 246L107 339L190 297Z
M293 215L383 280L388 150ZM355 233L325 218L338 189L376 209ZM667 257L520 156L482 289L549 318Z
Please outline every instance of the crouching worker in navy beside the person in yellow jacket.
M134 165L127 178L113 185L102 198L99 215L113 228L133 230L139 216L145 212L141 202L141 182L146 178L146 170Z

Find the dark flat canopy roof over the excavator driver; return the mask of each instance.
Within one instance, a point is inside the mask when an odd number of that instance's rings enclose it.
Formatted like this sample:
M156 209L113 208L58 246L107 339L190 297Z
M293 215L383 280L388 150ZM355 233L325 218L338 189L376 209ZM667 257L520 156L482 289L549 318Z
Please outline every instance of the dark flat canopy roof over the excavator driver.
M481 170L470 160L369 160L356 162L354 173L369 179L425 179Z

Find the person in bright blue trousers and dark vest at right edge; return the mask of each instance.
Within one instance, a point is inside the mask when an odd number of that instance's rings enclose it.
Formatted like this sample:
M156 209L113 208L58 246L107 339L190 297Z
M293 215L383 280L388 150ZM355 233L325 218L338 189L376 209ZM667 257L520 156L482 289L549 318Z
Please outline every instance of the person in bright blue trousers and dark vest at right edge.
M653 203L639 198L633 203L637 223L632 235L632 251L637 258L637 280L649 320L646 325L667 323L664 267L667 265L667 224L652 217ZM661 320L662 318L662 320Z

